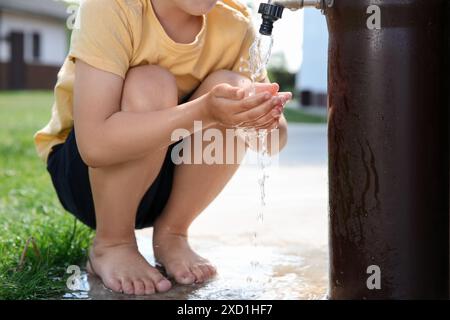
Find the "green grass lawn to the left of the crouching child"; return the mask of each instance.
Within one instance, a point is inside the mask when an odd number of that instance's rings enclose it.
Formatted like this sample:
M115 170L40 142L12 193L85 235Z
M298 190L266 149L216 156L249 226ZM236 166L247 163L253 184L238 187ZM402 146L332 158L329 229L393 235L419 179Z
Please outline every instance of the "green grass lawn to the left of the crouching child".
M60 298L66 268L81 264L92 233L58 202L33 134L49 119L51 92L0 93L0 299ZM27 239L30 247L17 271Z

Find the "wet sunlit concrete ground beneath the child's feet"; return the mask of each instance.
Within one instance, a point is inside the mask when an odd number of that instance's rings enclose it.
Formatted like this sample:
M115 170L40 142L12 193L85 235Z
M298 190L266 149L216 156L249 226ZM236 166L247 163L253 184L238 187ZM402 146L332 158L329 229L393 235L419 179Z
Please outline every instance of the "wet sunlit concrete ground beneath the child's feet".
M89 279L81 299L323 299L328 286L326 126L291 125L288 146L268 170L264 224L258 226L258 169L249 156L223 193L195 221L191 243L218 268L214 280L131 297ZM253 159L253 160L252 160ZM257 231L256 246L252 234ZM138 232L154 262L152 230ZM252 265L252 262L258 265ZM86 283L87 285L87 283Z

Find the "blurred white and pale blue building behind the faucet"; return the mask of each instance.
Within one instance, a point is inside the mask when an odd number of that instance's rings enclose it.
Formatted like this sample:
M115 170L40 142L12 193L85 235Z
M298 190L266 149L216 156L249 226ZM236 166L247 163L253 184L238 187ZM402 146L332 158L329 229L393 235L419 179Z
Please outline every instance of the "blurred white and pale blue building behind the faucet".
M255 24L261 23L257 9L267 0L247 0ZM301 105L327 105L328 30L325 16L315 9L285 10L273 30L274 48L269 67L296 74L295 91Z

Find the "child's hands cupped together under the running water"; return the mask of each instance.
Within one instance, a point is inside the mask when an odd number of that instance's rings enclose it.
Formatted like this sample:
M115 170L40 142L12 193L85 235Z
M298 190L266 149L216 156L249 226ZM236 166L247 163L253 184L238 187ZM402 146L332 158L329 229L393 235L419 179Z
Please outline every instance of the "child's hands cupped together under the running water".
M256 94L246 97L244 89L217 85L207 95L207 116L225 127L266 128L282 113L286 99L278 90L277 84L257 84Z

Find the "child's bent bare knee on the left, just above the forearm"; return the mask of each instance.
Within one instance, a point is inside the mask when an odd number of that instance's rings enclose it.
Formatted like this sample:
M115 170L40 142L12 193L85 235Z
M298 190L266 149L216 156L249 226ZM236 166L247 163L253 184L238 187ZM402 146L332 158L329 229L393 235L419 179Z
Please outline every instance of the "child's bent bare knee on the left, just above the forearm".
M128 71L123 87L122 110L145 112L174 107L177 103L177 83L168 70L146 65Z

